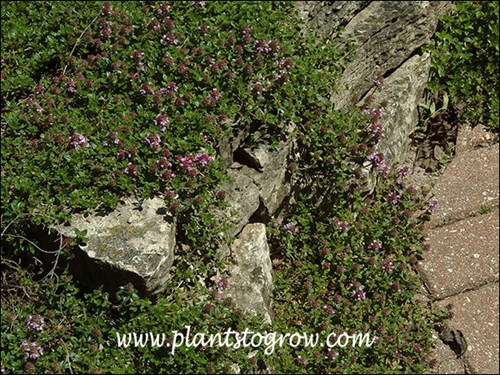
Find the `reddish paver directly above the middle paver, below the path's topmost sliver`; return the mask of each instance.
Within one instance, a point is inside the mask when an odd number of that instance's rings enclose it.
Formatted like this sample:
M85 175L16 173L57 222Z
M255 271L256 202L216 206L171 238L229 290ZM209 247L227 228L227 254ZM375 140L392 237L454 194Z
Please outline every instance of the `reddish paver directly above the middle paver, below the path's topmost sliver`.
M457 155L434 186L440 207L430 227L463 219L482 207L498 207L498 143Z

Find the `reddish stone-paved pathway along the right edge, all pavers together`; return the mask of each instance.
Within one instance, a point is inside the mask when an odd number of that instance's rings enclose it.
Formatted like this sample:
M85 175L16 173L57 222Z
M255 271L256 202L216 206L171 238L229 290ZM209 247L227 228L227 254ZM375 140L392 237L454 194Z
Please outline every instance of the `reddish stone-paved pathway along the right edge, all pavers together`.
M435 373L500 372L499 145L485 144L486 136L459 134L457 155L432 190L440 207L427 224L430 250L418 271L431 305L451 305L454 314L448 340L441 332L451 345L438 340L431 358Z

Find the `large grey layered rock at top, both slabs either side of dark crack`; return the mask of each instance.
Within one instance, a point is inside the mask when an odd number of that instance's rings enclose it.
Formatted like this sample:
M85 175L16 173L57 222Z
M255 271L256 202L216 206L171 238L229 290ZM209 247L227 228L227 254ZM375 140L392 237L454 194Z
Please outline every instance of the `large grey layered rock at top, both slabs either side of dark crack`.
M430 41L449 5L448 1L334 1L300 6L303 18L320 34L334 35L344 27L339 39L357 46L332 93L336 109L359 104L372 93L373 79L384 78L383 90L375 99L389 105L382 121L385 138L380 144L388 164L405 160L430 70L430 57L418 55L419 49Z

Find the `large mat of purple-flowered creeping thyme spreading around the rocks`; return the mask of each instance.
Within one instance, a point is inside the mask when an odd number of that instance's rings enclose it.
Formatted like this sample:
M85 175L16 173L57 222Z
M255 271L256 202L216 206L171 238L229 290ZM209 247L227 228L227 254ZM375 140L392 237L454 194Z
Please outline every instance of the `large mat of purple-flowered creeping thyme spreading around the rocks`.
M287 2L2 5L2 373L421 372L430 315L413 300L425 244L409 169L377 149L383 108L329 101L350 49L303 34ZM376 80L374 84L380 84ZM213 212L222 145L297 140L297 187L268 223L274 321L221 294ZM366 189L366 174L378 179ZM33 228L159 196L187 246L154 301L41 267ZM64 246L63 246L64 247ZM205 278L209 285L199 283ZM117 345L117 334L231 328L369 332L371 347ZM167 338L167 343L168 342ZM239 369L239 370L238 370Z

